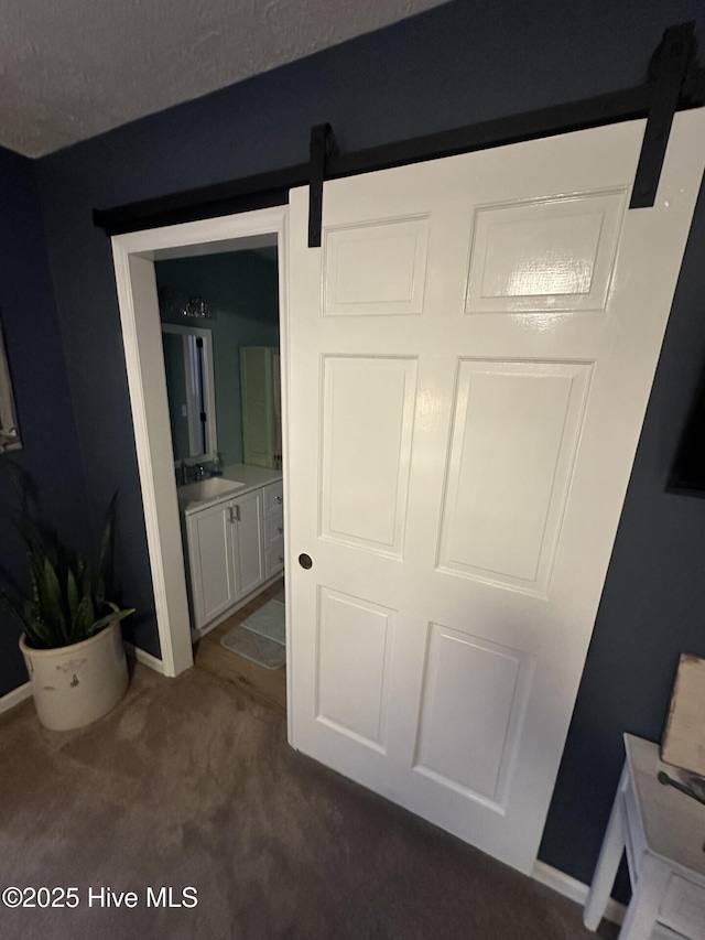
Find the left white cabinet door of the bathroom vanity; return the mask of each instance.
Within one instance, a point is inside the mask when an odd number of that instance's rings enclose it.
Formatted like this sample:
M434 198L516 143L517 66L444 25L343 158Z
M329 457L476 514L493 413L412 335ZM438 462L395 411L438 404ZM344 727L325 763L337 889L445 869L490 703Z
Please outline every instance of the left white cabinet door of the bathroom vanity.
M188 517L188 552L195 627L200 628L237 599L232 527L223 504Z

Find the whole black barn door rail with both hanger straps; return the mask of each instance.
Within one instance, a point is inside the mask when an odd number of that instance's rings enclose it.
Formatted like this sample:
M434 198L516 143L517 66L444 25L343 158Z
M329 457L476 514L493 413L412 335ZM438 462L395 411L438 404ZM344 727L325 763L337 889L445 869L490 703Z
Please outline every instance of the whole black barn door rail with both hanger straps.
M694 25L671 26L651 57L648 80L633 88L435 131L352 153L338 154L329 125L321 125L311 133L308 162L109 209L94 209L94 223L112 236L284 206L291 190L310 183L308 245L319 246L324 179L341 180L456 153L473 153L644 118L647 129L631 206L651 206L659 185L673 111L705 105L705 67L698 66L695 52Z

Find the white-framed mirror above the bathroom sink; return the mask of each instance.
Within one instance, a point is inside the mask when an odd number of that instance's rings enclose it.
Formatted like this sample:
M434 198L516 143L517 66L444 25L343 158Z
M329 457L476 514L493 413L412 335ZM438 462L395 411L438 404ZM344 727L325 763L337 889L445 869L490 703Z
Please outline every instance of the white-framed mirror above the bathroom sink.
M174 462L218 451L210 329L162 323Z

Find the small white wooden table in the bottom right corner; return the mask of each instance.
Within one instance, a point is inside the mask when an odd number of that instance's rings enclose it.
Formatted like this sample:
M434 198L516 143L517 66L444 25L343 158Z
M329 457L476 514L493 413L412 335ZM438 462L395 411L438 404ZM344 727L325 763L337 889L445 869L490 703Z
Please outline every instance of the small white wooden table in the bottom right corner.
M705 806L658 780L677 769L659 759L655 744L625 735L627 759L585 904L596 930L622 852L632 898L620 940L705 940Z

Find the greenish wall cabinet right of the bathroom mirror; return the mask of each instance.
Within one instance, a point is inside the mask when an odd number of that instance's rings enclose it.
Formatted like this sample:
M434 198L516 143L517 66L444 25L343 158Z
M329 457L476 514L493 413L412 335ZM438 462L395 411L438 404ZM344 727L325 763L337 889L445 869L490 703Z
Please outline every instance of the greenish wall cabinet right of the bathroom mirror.
M279 372L279 352L274 347L240 347L242 460L252 466L282 465Z

